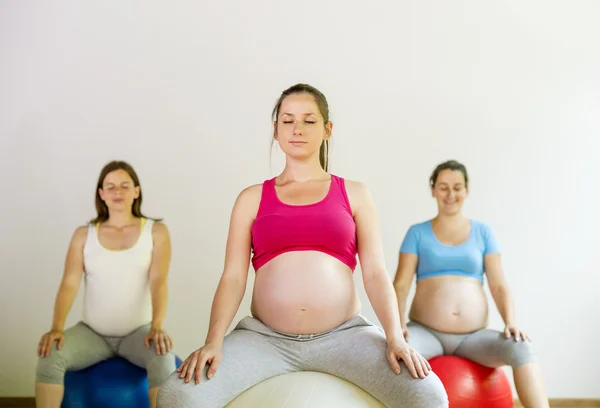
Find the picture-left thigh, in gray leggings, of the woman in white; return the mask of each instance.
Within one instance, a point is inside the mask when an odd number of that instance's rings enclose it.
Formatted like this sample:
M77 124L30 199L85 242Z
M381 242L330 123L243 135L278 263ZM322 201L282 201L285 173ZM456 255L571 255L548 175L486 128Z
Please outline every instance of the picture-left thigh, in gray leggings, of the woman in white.
M81 370L114 355L110 344L83 322L65 330L65 341L59 350L54 343L50 355L40 358L41 365L53 364L64 370Z

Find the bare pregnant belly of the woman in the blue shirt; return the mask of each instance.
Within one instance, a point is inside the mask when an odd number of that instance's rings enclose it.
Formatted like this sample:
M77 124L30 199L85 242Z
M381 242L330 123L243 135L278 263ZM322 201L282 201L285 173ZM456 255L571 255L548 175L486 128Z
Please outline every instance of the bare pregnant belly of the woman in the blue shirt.
M417 283L409 319L445 333L468 333L487 326L483 286L472 278L437 276Z

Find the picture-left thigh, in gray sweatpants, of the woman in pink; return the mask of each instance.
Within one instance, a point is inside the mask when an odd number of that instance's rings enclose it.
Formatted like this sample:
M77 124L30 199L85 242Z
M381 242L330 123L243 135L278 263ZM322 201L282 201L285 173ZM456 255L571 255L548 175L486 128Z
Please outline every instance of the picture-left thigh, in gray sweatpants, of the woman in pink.
M287 342L287 343L286 343ZM202 373L200 384L171 374L158 393L157 408L221 408L259 382L298 371L299 352L289 340L236 329L225 336L223 360L212 379Z

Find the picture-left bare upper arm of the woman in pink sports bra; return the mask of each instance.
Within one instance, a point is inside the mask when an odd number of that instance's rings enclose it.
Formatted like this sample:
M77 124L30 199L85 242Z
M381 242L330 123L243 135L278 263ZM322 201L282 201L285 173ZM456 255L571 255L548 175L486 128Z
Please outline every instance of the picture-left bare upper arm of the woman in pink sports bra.
M245 188L238 195L229 220L223 277L246 281L252 251L252 223L256 218L262 185Z

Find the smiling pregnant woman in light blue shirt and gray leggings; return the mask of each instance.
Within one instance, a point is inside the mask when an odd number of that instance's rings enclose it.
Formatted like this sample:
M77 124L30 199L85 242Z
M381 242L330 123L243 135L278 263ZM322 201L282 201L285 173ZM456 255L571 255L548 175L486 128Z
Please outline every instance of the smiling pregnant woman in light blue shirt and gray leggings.
M488 367L510 365L521 403L548 407L531 340L516 326L494 232L461 213L468 182L465 166L456 161L440 164L431 176L438 214L409 228L394 279L402 329L426 359L454 355ZM503 332L486 328L484 273L505 323ZM415 275L407 323L406 299Z

